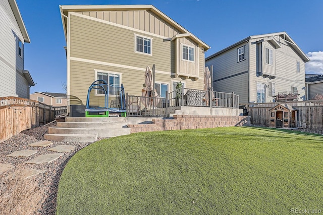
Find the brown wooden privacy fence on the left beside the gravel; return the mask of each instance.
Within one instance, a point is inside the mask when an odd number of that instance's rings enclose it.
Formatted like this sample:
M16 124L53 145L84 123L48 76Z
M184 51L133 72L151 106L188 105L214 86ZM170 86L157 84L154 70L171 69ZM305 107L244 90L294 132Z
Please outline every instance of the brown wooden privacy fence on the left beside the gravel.
M54 119L53 106L26 98L0 97L0 142Z

